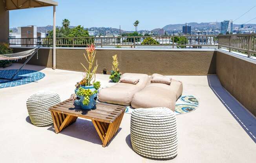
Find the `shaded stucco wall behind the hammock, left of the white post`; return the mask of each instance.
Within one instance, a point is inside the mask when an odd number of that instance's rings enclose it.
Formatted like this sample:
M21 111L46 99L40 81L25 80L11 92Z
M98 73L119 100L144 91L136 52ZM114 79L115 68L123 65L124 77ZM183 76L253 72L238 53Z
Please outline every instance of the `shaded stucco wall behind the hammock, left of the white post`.
M13 48L14 53L22 52L22 51L27 51L31 50L31 48ZM44 67L53 67L53 62L52 62L52 52L53 49L39 49L38 50L38 59L37 59L37 54L35 54L31 60L27 64L31 65L39 65L39 66L44 66ZM26 58L22 60L18 60L18 63L24 63L26 61Z

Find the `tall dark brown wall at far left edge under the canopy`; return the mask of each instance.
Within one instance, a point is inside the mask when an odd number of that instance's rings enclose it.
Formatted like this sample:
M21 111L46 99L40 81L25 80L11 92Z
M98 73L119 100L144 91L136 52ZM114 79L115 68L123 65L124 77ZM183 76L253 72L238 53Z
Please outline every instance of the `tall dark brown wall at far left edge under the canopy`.
M4 1L0 0L0 42L8 42L9 38L9 11L4 7Z

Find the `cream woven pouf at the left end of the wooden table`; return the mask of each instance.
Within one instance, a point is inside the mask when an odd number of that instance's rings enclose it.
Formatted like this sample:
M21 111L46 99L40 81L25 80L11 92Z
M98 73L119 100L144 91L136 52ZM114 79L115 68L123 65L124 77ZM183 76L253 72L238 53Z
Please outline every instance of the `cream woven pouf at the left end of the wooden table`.
M60 96L55 92L40 91L27 99L27 111L33 125L50 126L53 124L49 107L60 103Z

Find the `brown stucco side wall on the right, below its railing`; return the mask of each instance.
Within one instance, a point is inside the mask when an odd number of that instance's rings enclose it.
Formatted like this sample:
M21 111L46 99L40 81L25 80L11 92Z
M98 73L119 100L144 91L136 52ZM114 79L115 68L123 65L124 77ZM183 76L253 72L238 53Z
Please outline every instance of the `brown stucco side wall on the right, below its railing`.
M221 85L256 116L256 64L216 51Z

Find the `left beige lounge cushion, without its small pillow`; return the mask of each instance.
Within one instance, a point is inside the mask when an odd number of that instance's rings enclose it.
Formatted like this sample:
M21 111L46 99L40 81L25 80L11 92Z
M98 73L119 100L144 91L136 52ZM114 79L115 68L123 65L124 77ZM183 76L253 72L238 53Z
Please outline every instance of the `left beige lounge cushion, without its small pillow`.
M125 73L122 77L138 78L139 82L136 85L118 82L112 87L100 89L98 95L99 101L129 106L133 95L141 91L149 80L149 76L146 74Z

